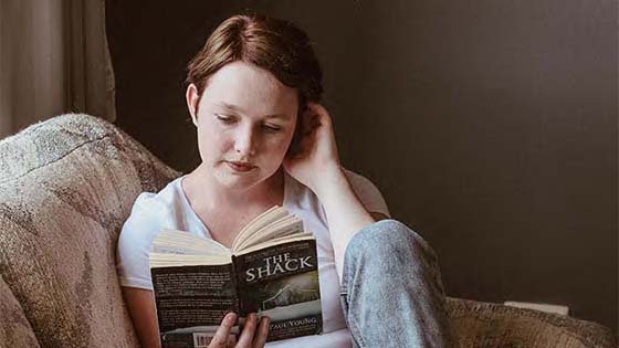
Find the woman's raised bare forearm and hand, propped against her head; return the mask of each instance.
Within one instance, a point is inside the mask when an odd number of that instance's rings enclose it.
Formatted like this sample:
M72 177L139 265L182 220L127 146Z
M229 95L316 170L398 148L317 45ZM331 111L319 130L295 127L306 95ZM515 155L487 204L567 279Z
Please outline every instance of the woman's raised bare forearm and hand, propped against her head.
M323 204L335 252L337 273L342 280L344 254L355 233L375 222L361 204L339 164L333 124L328 112L310 103L303 119L301 150L284 161L284 168L307 186ZM384 218L377 214L376 218Z

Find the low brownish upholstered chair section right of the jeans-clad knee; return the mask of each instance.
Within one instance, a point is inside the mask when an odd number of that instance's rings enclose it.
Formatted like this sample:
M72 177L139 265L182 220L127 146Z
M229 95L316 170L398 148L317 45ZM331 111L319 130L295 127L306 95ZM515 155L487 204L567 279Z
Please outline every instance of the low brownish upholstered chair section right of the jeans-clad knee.
M460 348L615 348L610 329L587 320L460 298L447 308Z

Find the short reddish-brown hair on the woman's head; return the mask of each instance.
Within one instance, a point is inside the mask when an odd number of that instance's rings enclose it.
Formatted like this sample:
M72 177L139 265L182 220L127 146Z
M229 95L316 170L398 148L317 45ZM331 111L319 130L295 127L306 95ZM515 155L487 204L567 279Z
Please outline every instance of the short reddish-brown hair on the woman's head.
M187 66L186 83L201 97L208 80L228 63L242 61L272 73L298 93L298 110L323 94L321 65L307 34L295 24L261 14L223 21Z

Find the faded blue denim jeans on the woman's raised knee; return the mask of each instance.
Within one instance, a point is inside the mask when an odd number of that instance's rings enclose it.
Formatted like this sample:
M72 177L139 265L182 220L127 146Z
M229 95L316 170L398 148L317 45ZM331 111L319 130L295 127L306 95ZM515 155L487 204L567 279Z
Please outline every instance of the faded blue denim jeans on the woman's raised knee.
M382 220L359 231L342 283L354 347L457 347L437 256L405 224Z

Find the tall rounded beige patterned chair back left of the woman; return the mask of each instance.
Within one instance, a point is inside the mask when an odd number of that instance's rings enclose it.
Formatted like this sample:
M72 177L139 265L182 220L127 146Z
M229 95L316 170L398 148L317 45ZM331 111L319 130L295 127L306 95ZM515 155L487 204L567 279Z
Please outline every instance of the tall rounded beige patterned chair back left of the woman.
M118 233L141 191L179 173L87 115L33 125L0 141L0 275L41 346L137 347Z

